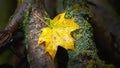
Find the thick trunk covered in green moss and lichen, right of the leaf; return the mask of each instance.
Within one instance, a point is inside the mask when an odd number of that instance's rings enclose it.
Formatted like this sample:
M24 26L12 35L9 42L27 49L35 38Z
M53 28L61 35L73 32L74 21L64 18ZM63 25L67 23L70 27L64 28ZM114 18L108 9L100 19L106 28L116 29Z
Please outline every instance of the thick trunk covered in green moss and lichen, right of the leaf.
M97 55L97 48L92 38L93 28L89 23L92 14L84 2L85 0L66 1L66 18L75 18L76 23L80 26L80 29L73 32L76 50L68 52L68 68L106 68L107 64Z

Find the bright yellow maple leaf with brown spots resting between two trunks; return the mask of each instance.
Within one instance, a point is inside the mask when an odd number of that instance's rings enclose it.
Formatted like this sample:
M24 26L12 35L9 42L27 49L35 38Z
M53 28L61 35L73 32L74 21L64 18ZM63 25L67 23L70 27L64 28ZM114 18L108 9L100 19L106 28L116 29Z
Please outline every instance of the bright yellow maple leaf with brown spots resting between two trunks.
M48 27L42 29L39 36L38 44L45 42L45 52L48 52L52 59L56 55L58 46L66 50L75 50L71 32L79 29L79 26L75 23L74 18L65 19L64 16L65 13L57 15L50 21Z

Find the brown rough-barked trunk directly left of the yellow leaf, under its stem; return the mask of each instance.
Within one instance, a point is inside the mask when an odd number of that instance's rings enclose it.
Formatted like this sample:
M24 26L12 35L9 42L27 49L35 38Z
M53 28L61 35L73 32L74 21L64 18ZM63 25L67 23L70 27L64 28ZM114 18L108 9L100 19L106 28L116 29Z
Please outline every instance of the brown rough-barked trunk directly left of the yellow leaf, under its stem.
M44 45L38 46L37 44L39 34L41 33L40 29L46 25L35 14L44 20L46 16L42 12L44 10L43 5L41 5L39 0L36 0L31 10L28 25L28 49L31 68L54 68L51 57L44 51Z

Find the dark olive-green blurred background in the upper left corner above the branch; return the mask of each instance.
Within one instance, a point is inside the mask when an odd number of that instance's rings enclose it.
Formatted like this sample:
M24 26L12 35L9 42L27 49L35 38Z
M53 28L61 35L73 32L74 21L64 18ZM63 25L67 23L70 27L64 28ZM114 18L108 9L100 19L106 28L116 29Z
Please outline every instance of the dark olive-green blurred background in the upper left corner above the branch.
M17 0L0 0L0 30L6 26L16 8Z

